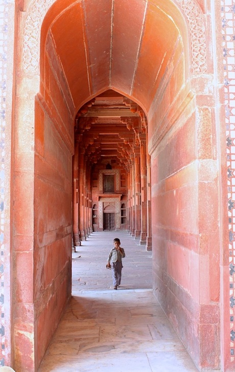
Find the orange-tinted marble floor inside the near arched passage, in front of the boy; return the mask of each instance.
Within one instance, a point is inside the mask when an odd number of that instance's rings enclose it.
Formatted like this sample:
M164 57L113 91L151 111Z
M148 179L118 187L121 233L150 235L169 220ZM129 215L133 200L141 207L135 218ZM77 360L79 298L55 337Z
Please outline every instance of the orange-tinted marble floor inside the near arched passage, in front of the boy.
M98 370L197 372L151 289L73 297L39 371Z

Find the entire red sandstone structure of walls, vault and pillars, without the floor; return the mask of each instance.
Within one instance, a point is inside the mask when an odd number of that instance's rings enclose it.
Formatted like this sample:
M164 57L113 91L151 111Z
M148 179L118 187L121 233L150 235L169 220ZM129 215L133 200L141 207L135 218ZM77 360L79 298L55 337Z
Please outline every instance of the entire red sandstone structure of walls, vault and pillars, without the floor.
M1 365L38 369L72 241L127 229L199 370L234 370L233 0L1 6Z

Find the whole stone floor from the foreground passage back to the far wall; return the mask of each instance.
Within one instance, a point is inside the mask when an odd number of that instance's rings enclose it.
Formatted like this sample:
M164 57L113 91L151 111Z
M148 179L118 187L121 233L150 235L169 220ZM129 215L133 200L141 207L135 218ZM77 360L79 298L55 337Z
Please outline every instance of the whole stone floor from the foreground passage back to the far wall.
M105 268L125 249L121 287ZM92 233L73 252L73 297L39 372L197 372L152 294L151 252L127 232Z

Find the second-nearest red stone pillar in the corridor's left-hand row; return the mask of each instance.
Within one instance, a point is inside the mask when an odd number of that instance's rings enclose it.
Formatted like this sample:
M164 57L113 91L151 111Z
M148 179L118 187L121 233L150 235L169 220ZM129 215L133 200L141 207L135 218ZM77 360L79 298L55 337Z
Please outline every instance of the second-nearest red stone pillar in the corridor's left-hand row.
M85 149L80 146L79 151L79 231L80 239L86 240L84 231L84 153Z

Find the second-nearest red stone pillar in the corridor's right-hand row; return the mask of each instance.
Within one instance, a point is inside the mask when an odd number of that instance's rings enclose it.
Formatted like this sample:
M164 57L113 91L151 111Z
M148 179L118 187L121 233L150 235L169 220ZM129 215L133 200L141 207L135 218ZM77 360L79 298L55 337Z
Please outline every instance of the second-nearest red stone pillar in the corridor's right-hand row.
M140 141L140 183L141 183L141 233L140 244L147 240L147 163L146 163L146 135L139 134Z

